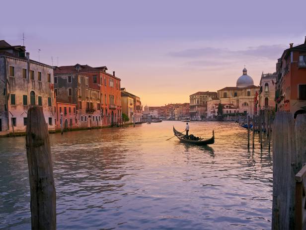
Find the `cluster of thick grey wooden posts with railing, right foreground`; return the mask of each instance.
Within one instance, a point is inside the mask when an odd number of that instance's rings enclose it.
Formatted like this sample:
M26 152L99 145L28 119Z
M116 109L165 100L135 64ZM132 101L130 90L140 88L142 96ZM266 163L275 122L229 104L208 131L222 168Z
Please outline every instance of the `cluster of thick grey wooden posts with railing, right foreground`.
M268 117L267 123L269 119ZM270 133L269 128L267 132ZM272 132L274 152L272 230L305 228L303 189L306 181L303 182L303 179L306 178L306 173L303 173L303 169L306 172L306 168L302 169L306 163L305 133L306 114L298 115L294 121L291 113L277 112ZM298 183L302 183L303 186Z

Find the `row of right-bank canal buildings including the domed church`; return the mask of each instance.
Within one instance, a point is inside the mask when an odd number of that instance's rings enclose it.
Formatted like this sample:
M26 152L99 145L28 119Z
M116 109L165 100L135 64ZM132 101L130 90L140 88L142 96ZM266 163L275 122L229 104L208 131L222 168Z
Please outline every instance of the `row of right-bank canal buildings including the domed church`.
M220 106L225 120L235 120L239 114L257 115L260 110L287 111L294 117L306 113L306 38L304 44L294 46L291 43L277 60L276 71L262 73L259 85L254 85L244 68L235 86L217 92L196 92L189 99L190 103L184 104L145 106L144 116L215 120L220 115Z

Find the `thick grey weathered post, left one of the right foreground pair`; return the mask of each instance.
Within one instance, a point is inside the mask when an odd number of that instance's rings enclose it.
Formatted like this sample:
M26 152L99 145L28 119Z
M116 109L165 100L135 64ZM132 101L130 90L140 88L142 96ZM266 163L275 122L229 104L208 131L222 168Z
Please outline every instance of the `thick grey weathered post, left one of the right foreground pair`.
M297 154L294 121L287 112L277 112L273 123L272 230L293 230Z

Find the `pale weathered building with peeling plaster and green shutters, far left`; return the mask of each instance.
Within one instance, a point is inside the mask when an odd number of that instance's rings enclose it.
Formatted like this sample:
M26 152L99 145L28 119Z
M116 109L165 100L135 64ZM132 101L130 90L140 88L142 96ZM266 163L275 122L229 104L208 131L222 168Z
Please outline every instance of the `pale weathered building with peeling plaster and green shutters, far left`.
M48 129L55 130L53 68L25 51L0 41L0 132L25 132L30 106L41 106Z

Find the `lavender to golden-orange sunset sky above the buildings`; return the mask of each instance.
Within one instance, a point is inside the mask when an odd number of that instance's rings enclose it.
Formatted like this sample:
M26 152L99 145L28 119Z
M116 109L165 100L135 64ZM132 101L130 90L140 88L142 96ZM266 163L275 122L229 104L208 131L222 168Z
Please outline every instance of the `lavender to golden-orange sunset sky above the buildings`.
M1 1L0 40L59 66L107 66L159 106L235 86L245 65L259 84L289 43L304 43L306 0ZM5 20L4 20L5 18Z

